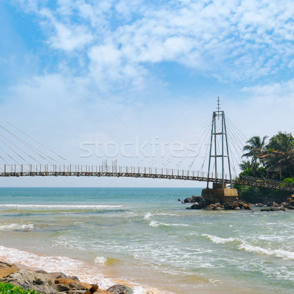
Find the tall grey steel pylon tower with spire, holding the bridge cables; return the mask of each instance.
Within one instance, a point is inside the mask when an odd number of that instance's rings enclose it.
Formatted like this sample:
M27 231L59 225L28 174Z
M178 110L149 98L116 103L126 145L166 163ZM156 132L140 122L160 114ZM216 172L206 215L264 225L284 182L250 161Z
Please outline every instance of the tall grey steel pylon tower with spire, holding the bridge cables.
M228 147L228 138L227 138L227 130L226 130L226 124L225 124L225 116L224 111L220 110L220 98L218 97L218 110L214 111L212 114L212 123L211 123L211 135L210 135L210 150L209 150L209 163L208 163L208 173L207 173L207 188L209 184L209 173L210 173L210 166L211 166L211 158L214 158L214 164L215 164L215 178L217 181L217 163L218 158L221 157L221 178L222 178L222 188L224 188L224 158L226 157L228 160L228 167L229 167L229 174L230 174L230 183L231 188L232 185L232 174L231 174L231 166L230 166L230 156L229 156L229 147ZM221 119L221 127L217 127L216 120ZM217 150L217 136L221 136L221 154L218 154ZM213 147L212 147L212 141L214 139L214 155L212 154ZM226 145L226 154L224 154L224 140Z

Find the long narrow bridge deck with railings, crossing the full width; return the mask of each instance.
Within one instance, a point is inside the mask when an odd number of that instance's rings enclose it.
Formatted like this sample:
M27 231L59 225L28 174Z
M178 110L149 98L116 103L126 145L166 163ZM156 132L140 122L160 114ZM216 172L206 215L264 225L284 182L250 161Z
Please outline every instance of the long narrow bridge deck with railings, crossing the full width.
M93 165L0 165L0 177L8 176L117 176L154 179L180 179L221 183L221 174L151 167L93 166ZM230 183L227 174L225 183ZM249 176L233 176L233 184L294 192L294 184Z

